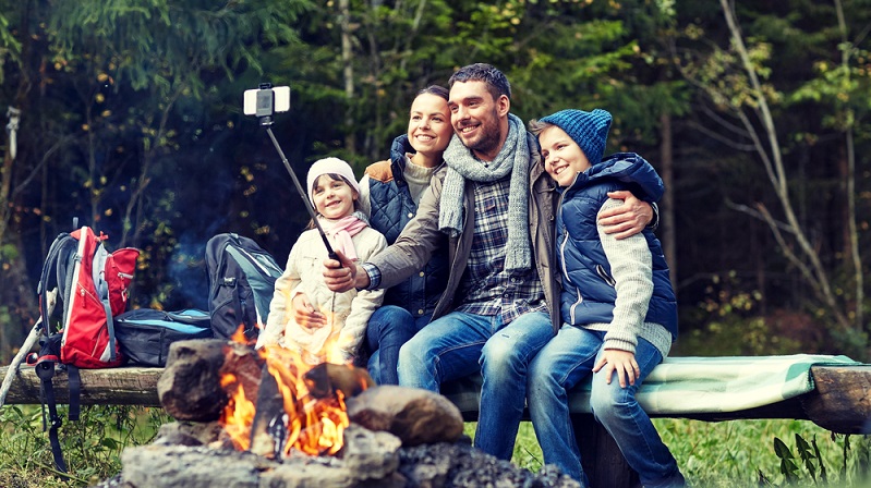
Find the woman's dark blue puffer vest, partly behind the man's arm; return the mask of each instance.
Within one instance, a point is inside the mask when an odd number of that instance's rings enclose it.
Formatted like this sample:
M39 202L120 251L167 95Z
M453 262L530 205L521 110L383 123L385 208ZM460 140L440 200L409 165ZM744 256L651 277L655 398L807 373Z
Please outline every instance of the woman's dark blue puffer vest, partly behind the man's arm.
M387 244L392 244L397 240L402 229L418 211L418 206L411 199L403 174L406 152L414 152L414 148L409 144L408 136L403 134L394 139L390 147L392 178L385 181L370 178L370 202L372 204L370 225L384 234ZM447 236L445 240L447 241ZM413 317L432 314L448 280L447 248L447 243L438 246L422 272L387 289L384 304L398 305L409 310Z

